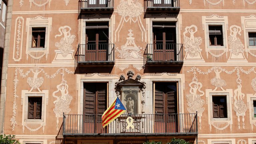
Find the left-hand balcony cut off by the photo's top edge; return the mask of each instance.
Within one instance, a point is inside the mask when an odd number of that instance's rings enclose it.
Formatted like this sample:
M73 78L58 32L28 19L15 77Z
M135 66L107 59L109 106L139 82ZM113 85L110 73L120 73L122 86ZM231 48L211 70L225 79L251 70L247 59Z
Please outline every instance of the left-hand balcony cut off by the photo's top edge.
M78 14L86 12L113 12L114 0L79 0L78 1Z

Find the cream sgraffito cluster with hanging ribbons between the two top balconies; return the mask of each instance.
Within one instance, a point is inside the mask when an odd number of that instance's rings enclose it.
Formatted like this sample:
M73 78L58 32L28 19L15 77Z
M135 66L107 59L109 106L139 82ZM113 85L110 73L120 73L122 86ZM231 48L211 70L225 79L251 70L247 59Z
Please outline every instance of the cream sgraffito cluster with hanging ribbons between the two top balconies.
M134 22L138 23L140 31L141 31L141 39L142 41L145 40L147 42L146 36L147 32L142 24L140 15L143 14L143 6L138 0L121 0L120 4L117 6L117 13L118 15L122 16L121 20L115 30L115 42L116 39L119 41L119 32L121 31L124 22Z

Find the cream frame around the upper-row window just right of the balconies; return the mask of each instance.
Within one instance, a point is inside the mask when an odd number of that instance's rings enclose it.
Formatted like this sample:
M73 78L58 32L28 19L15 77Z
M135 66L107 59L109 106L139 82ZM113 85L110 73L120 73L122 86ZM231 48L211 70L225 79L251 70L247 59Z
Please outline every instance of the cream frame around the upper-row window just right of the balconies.
M209 43L209 25L222 25L222 33L223 33L223 46L210 46ZM227 16L218 16L213 14L211 16L202 16L202 26L204 31L205 38L205 52L208 58L209 53L211 51L221 51L218 53L226 53L228 52L228 17ZM213 54L211 54L213 55ZM214 55L213 55L214 56ZM216 57L216 56L215 56Z

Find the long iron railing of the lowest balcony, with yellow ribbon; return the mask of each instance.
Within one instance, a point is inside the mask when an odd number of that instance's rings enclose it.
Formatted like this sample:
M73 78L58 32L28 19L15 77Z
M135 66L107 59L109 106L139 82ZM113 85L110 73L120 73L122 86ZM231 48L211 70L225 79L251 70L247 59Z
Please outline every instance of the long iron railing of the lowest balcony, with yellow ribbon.
M123 114L105 128L102 115L64 115L63 136L118 135L197 135L197 113L194 114ZM131 117L133 120L131 120Z

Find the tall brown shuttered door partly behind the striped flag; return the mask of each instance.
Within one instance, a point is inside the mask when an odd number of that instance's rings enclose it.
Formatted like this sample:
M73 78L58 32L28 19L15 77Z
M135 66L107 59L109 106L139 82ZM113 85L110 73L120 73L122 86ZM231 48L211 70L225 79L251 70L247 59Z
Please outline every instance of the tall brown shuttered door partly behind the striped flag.
M101 116L107 109L107 83L84 83L83 133L105 133Z

